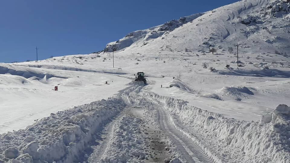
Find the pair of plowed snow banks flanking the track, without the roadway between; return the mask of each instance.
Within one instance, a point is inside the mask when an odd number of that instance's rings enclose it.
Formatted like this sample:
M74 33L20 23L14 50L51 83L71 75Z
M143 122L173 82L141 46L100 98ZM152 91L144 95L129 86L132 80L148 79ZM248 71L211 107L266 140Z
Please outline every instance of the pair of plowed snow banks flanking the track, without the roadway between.
M82 160L82 151L102 123L127 104L144 101L163 106L172 124L216 162L290 162L289 115L274 111L263 122L228 119L183 100L142 91L143 87L142 82L130 85L108 100L52 113L26 129L0 135L0 162Z

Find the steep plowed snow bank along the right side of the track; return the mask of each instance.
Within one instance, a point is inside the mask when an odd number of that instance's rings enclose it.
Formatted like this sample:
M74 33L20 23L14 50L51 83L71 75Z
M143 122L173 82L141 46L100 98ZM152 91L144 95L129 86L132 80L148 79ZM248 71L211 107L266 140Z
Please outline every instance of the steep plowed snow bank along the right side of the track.
M192 140L202 144L201 147L216 161L290 162L289 121L264 124L261 121L227 119L221 114L188 106L183 100L152 92L143 92L142 95L181 118L187 125L179 124L176 118L172 118L172 122ZM278 108L279 113L288 112L287 107Z

